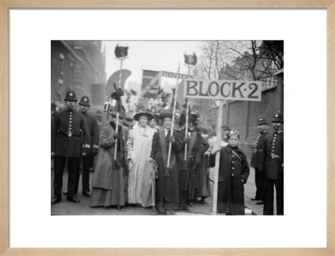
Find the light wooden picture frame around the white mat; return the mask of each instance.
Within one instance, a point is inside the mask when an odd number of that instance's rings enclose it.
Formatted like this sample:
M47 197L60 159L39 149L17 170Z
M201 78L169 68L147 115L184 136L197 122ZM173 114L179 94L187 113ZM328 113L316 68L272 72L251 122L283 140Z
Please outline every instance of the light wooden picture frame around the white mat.
M327 248L8 248L8 13L10 8L327 8ZM335 0L0 0L1 255L334 255Z

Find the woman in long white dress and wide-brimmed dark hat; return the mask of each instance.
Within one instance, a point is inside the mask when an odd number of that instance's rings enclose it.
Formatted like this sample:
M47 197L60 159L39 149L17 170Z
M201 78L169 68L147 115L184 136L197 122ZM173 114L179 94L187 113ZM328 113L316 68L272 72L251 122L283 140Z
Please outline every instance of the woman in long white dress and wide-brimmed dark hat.
M127 140L127 154L129 165L128 203L143 207L154 206L152 188L154 179L149 172L147 160L151 153L151 144L155 129L149 127L151 112L141 110L134 115L137 126L129 131Z

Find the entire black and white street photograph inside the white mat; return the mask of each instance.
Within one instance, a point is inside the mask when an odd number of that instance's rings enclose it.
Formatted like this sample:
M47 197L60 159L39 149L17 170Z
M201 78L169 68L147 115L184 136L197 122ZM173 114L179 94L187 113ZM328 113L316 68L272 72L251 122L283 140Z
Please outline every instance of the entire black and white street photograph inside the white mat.
M284 40L50 47L52 216L284 215Z

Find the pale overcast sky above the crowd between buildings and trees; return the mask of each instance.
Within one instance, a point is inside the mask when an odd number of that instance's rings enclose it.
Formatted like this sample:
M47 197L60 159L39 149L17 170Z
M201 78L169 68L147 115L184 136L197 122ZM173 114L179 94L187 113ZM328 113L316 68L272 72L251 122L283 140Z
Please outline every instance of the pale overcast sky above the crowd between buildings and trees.
M180 73L187 74L184 65L184 52L200 55L202 41L105 41L107 80L120 68L120 61L115 59L114 48L117 44L128 46L128 59L123 61L122 68L131 70L132 75L126 81L142 84L142 70L165 70L177 73L180 61ZM174 79L165 78L165 82L175 83Z

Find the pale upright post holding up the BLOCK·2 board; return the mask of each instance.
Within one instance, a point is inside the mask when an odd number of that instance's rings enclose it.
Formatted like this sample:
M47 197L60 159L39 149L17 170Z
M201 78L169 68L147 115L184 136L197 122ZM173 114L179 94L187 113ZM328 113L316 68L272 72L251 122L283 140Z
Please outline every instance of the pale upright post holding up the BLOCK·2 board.
M223 102L220 100L218 105L218 123L216 124L216 145L221 144L221 126L222 126ZM213 193L213 215L216 215L218 204L218 165L220 164L220 151L216 152L214 166L214 193Z

